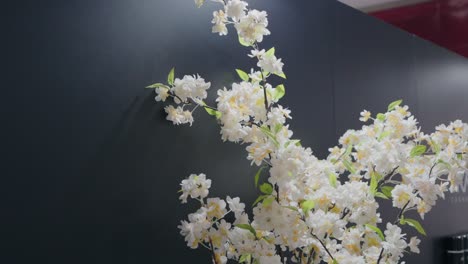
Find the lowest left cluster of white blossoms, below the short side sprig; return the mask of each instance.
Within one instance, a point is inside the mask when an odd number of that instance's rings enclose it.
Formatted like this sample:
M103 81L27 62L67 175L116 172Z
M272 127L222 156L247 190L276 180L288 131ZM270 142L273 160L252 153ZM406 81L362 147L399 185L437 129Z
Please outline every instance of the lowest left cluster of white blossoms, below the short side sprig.
M188 216L188 221L181 221L180 233L185 237L187 246L198 248L199 245L213 251L214 263L226 263L229 259L250 258L258 259L259 263L281 263L275 256L275 245L267 241L271 232L252 232L245 204L238 197L207 198L210 182L205 175L190 175L182 181L181 199L187 197L200 201L201 207ZM228 210L229 209L229 210ZM229 213L234 214L233 223L224 218ZM265 239L259 240L262 237Z

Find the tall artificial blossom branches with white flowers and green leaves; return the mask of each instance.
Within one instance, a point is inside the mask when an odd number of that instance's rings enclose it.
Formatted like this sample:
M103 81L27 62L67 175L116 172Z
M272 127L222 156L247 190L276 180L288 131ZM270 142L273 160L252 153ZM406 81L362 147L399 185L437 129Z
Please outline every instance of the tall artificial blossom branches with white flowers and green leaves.
M204 2L195 0L198 7ZM246 144L247 159L259 167L260 195L249 216L238 197L208 198L206 175L184 179L180 200L200 203L179 226L187 245L210 250L214 264L398 263L409 251L419 253L420 240L408 239L401 226L425 231L405 213L416 210L424 219L439 197L458 190L467 168L468 125L457 120L424 134L398 100L385 113L361 112L366 124L347 131L319 160L292 138L291 111L278 104L284 85L268 82L271 75L286 76L275 49L259 47L270 34L267 13L249 10L242 0L212 2L221 6L213 13L213 32L226 35L232 25L258 68L236 70L241 81L217 91L216 107L203 101L211 83L198 75L179 79L172 69L167 84L148 88L156 101L173 100L165 111L175 125L192 124L192 112L205 109L224 141ZM262 172L269 176L260 183ZM399 209L393 222L382 222L380 199Z

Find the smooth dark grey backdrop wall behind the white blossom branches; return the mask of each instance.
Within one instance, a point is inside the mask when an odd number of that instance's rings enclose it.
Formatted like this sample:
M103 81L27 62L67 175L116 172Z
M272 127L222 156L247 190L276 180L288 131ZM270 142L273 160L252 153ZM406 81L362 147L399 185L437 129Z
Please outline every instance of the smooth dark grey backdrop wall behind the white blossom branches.
M468 62L334 0L252 0L270 14L286 63L295 137L319 157L359 112L403 98L425 131L468 119ZM212 5L210 5L213 7ZM215 89L252 61L210 33L192 0L16 1L2 6L1 263L209 263L189 250L178 184L192 172L213 195L256 197L244 146L221 144L210 117L173 127L143 87L199 73ZM466 195L426 217L408 263L439 263L438 239L468 229ZM383 214L395 212L383 205Z

